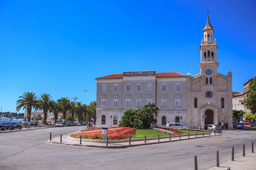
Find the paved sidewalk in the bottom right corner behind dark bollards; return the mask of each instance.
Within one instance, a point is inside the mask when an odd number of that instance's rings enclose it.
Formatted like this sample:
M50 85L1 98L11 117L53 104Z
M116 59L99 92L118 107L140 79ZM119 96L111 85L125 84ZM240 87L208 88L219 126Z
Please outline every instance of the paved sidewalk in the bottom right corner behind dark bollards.
M207 170L252 170L256 169L256 153L247 153L245 157L238 157L234 161L228 161L224 164L220 164L220 167L212 167Z

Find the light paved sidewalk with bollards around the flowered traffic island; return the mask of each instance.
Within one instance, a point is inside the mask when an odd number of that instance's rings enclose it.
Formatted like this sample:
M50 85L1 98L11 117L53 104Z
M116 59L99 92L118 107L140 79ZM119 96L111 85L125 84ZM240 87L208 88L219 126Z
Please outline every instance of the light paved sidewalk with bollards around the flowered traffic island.
M70 134L75 134L76 132L70 133ZM58 143L61 145L73 145L73 146L87 146L87 147L97 147L97 148L127 148L127 147L131 147L131 146L141 146L141 145L152 145L152 144L156 144L156 143L166 143L166 142L173 142L173 141L180 141L180 140L188 140L188 139L195 139L195 138L209 138L209 137L217 137L219 136L219 134L216 133L216 136L214 136L214 133L211 133L211 136L209 136L209 134L204 134L204 137L202 134L198 134L198 136L181 136L179 138L179 136L176 137L171 137L171 141L168 138L164 138L164 139L150 139L147 140L145 143L144 138L142 138L142 141L131 141L131 145L129 145L129 142L122 142L122 143L108 143L108 146L105 143L95 143L95 142L88 142L88 141L82 141L82 145L80 145L80 141L79 139L76 140L70 140L68 138L70 138L70 134L65 134L62 136L62 142L60 142L60 136L52 138L52 140L48 140L49 143ZM221 135L221 134L220 134Z

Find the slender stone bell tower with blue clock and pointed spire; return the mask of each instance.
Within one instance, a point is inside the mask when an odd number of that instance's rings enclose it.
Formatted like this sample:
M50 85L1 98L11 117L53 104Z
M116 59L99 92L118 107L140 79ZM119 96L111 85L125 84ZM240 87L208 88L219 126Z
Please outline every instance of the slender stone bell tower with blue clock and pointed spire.
M213 36L214 28L212 27L209 19L209 14L207 15L207 22L203 29L204 32L204 39L202 39L200 45L200 55L201 60L199 67L201 69L201 74L207 78L208 76L216 76L217 73L217 48L218 45L216 44L216 38ZM214 40L213 40L214 38ZM213 78L213 77L212 77ZM211 81L212 81L211 78ZM209 82L207 79L205 80L205 84L210 84L210 77ZM213 84L211 82L211 84Z

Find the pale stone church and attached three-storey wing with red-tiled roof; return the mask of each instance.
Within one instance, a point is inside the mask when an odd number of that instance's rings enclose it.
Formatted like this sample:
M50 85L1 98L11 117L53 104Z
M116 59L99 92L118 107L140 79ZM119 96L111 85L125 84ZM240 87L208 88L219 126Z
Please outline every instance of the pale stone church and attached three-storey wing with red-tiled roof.
M218 73L216 38L209 15L195 76L156 71L124 71L96 78L97 127L117 126L124 112L148 103L159 107L157 126L180 122L189 128L227 122L232 129L232 73Z

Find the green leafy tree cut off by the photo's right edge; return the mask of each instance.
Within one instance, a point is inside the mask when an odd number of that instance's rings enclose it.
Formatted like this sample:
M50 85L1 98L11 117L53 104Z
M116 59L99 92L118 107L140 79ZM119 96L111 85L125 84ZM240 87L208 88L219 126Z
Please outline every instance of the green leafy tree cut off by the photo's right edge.
M253 114L256 113L256 78L250 83L250 89L246 93L245 106L252 111Z

